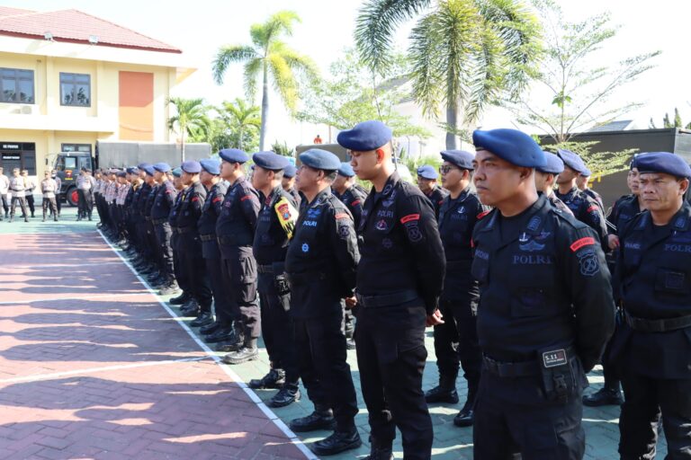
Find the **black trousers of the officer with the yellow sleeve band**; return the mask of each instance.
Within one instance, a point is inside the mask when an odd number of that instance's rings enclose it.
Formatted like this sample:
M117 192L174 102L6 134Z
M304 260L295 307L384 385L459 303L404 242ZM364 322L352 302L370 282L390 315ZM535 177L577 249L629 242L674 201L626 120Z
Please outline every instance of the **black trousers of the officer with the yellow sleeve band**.
M297 383L300 374L290 314L291 294L279 294L274 280L274 275L271 273L258 275L257 290L259 291L262 337L272 367L283 369L287 382Z

